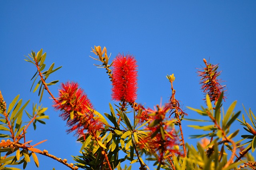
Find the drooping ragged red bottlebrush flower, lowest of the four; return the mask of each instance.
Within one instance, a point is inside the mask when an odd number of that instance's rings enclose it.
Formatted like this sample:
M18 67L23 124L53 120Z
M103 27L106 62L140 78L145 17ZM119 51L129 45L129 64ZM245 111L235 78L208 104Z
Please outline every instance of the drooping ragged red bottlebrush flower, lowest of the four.
M172 127L173 122L166 120L169 108L157 105L154 110L150 108L144 110L149 113L151 121L145 129L148 132L147 136L141 138L138 145L152 154L157 154L160 164L164 164L166 156L174 153L180 154L175 148L178 145L178 136Z

